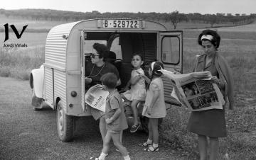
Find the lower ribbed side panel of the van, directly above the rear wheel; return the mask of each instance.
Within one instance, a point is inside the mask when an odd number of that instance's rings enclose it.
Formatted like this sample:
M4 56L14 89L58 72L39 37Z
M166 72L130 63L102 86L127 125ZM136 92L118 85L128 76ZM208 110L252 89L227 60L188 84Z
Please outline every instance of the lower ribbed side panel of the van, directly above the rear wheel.
M54 70L54 99L60 98L65 113L67 113L67 98L66 98L66 74L65 72L60 72Z

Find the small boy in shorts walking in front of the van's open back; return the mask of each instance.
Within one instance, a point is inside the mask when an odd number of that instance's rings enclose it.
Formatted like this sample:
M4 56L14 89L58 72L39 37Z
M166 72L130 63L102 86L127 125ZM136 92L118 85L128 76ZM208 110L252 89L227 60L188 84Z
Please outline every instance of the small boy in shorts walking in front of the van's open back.
M101 79L104 88L109 91L107 96L105 117L107 123L107 135L103 142L102 153L95 160L104 160L110 149L111 139L114 146L117 147L119 152L124 157L124 160L130 160L127 149L120 142L120 134L122 130L127 129L127 119L124 115L124 107L122 105L122 98L117 89L117 76L113 73L104 74Z

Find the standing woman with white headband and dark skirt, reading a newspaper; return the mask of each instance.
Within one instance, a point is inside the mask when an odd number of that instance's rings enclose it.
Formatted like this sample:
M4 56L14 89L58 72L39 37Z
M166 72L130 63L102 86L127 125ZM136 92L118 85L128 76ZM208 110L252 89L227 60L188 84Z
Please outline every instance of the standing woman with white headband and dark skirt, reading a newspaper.
M198 36L198 44L203 47L205 54L197 57L194 72L209 71L211 81L218 85L223 93L225 105L233 109L233 76L226 60L218 53L220 35L215 30L203 30ZM201 78L195 74L194 77ZM223 110L211 109L193 111L188 121L188 130L198 135L200 159L208 159L208 138L210 139L210 160L217 159L218 137L226 137L225 107Z

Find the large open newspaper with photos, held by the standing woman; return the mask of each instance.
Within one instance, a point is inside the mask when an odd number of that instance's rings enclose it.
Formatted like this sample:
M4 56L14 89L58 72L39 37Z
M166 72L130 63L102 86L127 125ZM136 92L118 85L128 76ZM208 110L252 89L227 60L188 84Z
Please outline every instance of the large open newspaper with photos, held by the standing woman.
M175 84L171 96L192 111L223 109L223 95L217 84L209 81L212 78L210 72L174 74L164 69L161 72ZM196 74L203 76L194 78Z

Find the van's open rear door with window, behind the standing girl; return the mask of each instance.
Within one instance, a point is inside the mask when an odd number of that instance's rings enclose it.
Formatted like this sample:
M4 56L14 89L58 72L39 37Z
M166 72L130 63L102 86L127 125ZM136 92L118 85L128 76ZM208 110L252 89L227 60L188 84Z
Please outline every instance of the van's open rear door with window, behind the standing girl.
M183 70L183 32L166 31L159 33L159 61L164 64L164 69L171 72ZM166 77L164 81L164 98L166 103L180 105L176 99L171 97L173 84Z

